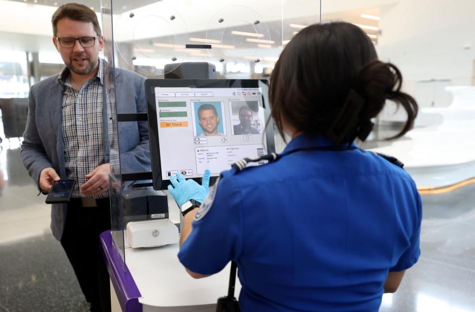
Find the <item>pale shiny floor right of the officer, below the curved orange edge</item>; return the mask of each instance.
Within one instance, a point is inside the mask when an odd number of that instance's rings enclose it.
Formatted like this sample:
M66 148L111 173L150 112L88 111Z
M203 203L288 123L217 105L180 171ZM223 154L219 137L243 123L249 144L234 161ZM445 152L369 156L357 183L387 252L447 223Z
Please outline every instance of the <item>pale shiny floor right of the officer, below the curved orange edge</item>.
M475 185L423 195L422 255L380 311L475 311Z

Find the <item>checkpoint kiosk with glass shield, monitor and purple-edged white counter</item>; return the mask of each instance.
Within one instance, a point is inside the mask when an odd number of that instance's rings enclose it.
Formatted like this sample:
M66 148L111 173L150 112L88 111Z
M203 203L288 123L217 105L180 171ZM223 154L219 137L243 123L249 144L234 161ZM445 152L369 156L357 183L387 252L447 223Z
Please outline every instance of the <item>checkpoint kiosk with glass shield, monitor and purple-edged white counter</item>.
M320 0L102 0L101 14L112 219L101 243L112 311L215 311L230 265L202 279L188 275L177 257L182 216L166 185L177 172L199 179L209 168L218 176L240 158L282 151L272 123L266 128L265 80L285 44L321 20ZM190 72L190 63L203 70ZM116 68L147 78L148 115L119 109ZM220 116L216 136L203 135L204 104ZM252 110L253 133L238 131L242 106ZM121 166L118 138L137 122L148 122L148 172ZM239 290L237 283L236 297Z

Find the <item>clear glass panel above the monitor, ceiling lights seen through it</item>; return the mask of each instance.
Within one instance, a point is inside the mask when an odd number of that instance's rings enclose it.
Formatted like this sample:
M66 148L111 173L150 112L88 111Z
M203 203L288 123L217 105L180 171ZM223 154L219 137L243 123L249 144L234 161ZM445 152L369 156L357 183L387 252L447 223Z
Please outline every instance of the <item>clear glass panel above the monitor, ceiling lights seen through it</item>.
M112 1L117 65L160 78L181 62L220 75L271 71L282 46L320 20L320 1ZM167 67L166 64L175 66ZM242 75L244 74L244 75Z

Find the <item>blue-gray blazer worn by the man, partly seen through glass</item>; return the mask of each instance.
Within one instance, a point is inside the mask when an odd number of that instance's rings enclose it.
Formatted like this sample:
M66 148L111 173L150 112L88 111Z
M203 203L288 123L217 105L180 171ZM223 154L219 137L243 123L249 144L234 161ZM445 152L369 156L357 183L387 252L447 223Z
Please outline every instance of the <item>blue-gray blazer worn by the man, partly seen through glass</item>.
M29 111L20 156L39 189L40 172L52 167L61 179L66 178L62 138L62 86L54 75L30 89ZM105 81L105 80L103 80ZM145 78L131 71L115 69L115 98L118 113L144 113ZM104 120L107 112L103 110ZM107 123L104 122L104 133ZM120 164L122 172L150 171L150 150L146 121L122 122L119 127ZM104 136L105 162L109 162L109 141ZM51 231L61 239L66 220L66 204L51 205Z

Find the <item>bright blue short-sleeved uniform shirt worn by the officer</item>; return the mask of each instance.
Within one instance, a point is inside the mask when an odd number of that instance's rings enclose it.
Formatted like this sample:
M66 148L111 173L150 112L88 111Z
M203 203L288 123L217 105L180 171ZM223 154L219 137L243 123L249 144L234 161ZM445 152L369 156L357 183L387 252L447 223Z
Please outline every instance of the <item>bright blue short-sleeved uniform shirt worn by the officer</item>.
M331 145L300 135L284 154ZM297 151L223 172L178 257L202 274L236 261L242 311L378 311L388 272L419 258L421 219L414 181L381 156Z

